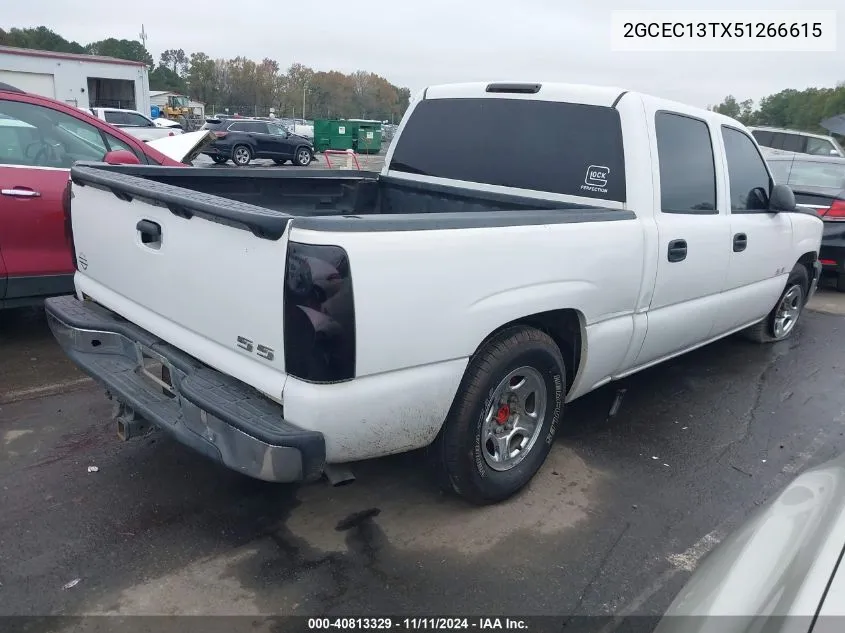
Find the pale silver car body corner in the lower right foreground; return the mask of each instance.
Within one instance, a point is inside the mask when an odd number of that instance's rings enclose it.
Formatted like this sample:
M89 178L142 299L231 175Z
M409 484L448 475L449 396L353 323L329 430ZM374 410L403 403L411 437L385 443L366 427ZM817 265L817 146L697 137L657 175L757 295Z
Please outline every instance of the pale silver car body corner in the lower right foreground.
M654 631L841 631L843 552L840 456L799 475L705 556Z

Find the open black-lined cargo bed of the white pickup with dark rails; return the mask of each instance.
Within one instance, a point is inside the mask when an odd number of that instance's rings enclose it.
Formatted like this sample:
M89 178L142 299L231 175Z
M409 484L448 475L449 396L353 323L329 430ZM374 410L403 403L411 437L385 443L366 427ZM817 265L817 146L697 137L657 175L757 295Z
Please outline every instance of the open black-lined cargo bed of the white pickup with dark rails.
M628 211L454 186L376 172L171 168L80 163L77 186L167 206L278 239L288 222L331 231L396 231L631 219ZM561 213L564 211L565 213ZM400 217L401 216L401 217Z

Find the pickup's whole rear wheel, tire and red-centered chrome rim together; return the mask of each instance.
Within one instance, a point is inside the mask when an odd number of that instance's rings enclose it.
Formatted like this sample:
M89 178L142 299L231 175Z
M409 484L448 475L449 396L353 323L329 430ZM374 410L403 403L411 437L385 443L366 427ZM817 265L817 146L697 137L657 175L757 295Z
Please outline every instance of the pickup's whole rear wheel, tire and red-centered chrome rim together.
M473 503L502 501L543 465L563 409L566 368L554 341L517 326L473 357L431 447L441 485Z

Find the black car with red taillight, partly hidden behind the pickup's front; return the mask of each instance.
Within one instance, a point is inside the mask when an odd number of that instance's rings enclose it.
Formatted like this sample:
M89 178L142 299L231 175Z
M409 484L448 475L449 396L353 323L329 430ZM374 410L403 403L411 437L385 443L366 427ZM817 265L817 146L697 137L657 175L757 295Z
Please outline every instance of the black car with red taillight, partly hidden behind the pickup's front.
M775 181L789 185L798 206L824 222L819 261L825 275L836 277L845 292L845 158L768 155Z

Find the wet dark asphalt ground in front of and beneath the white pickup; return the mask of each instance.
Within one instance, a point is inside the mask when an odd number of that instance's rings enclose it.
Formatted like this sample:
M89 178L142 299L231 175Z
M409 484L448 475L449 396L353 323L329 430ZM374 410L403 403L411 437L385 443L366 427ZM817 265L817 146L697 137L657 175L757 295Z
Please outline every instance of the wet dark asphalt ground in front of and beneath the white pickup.
M486 508L438 492L421 453L331 488L120 442L43 312L0 313L0 615L659 614L845 447L845 295L812 308L787 342L731 337L572 403L531 486Z

